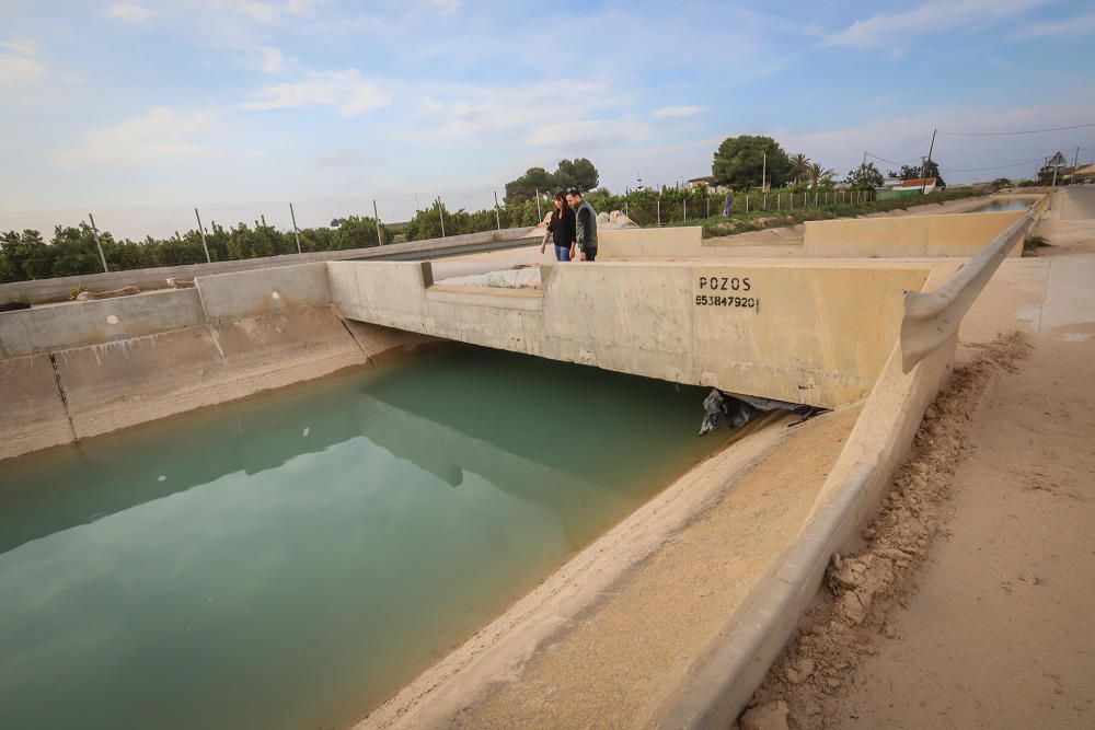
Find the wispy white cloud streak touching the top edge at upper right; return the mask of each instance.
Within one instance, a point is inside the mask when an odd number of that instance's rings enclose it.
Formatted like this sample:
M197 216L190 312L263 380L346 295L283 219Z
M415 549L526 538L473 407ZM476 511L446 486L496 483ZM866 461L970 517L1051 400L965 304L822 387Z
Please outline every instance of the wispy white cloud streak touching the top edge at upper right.
M830 35L822 46L875 48L904 45L910 35L968 26L1007 18L1038 5L1046 0L934 0L919 8L889 15L874 15L855 21L843 31Z

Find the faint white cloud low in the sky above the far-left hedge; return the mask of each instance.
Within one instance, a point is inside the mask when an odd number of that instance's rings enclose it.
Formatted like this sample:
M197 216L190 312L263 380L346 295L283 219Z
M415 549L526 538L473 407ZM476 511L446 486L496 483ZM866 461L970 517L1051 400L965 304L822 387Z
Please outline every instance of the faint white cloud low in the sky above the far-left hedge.
M215 121L211 112L181 114L158 106L141 116L88 131L77 147L62 150L55 161L70 169L193 162L217 152L201 140Z

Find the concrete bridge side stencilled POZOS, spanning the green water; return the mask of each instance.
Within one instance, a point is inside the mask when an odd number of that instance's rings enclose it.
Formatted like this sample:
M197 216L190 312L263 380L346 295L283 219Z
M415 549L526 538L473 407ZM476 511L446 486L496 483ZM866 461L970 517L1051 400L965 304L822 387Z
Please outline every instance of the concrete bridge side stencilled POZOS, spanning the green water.
M837 408L869 392L931 264L542 266L541 288L434 283L428 263L331 262L344 317Z

